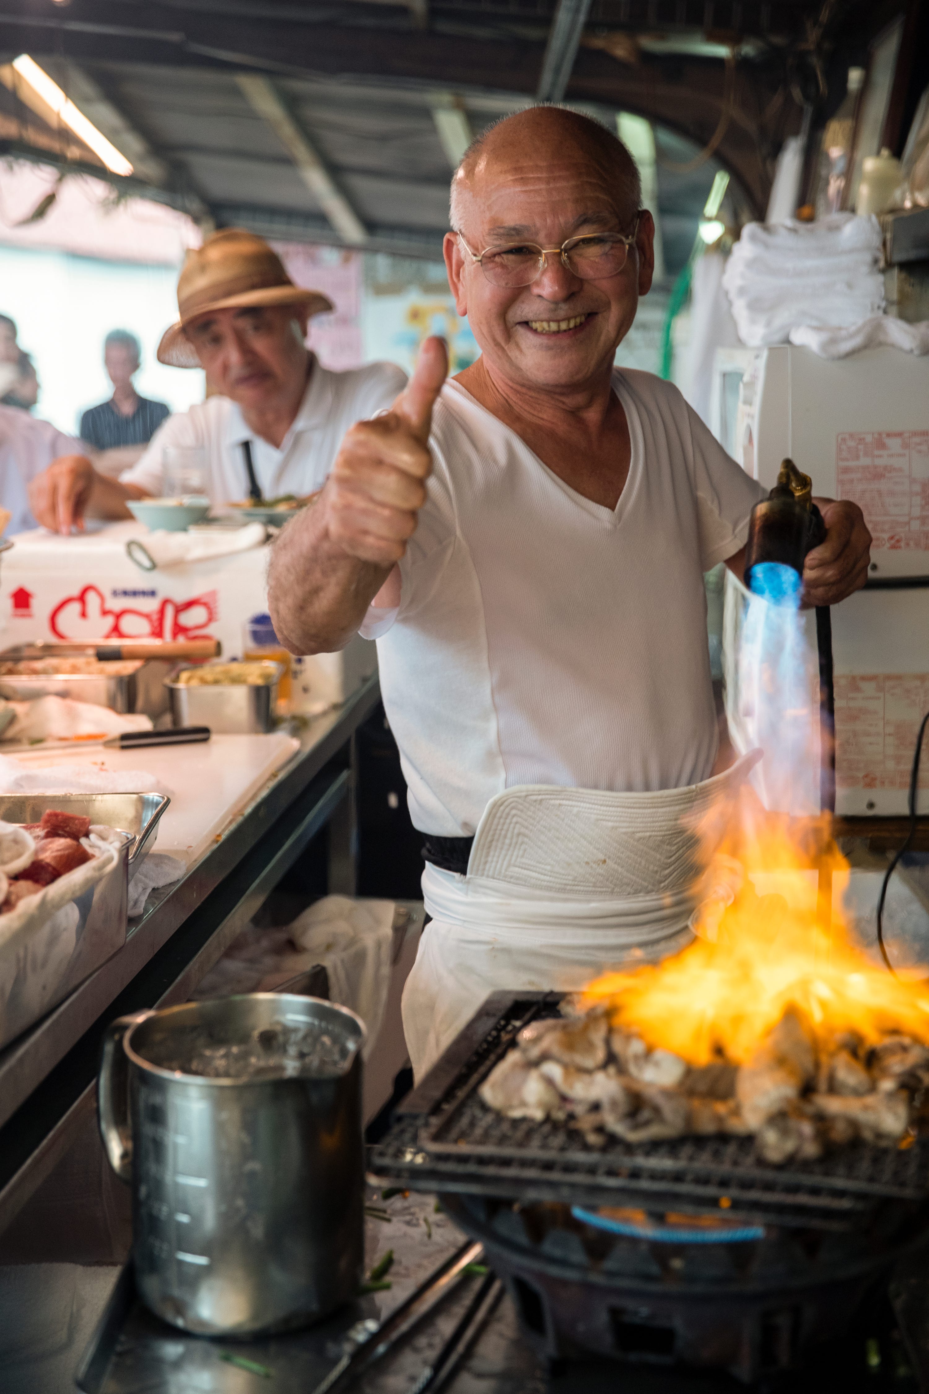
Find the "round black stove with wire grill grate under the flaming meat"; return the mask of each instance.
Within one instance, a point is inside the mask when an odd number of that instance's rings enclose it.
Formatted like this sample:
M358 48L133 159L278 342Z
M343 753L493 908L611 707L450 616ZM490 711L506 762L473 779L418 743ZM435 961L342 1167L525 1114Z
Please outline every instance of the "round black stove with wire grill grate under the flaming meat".
M841 1342L862 1303L886 1306L894 1274L929 1394L929 1142L858 1143L786 1170L759 1163L744 1138L593 1150L557 1124L503 1118L478 1086L557 1004L489 998L372 1151L377 1175L437 1190L483 1242L536 1351L765 1380Z

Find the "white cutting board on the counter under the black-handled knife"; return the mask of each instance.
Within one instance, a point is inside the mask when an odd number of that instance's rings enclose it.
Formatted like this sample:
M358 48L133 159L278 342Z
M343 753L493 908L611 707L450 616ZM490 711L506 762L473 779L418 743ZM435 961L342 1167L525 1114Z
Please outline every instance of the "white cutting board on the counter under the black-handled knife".
M13 756L24 768L79 765L100 772L143 771L152 776L141 792L166 793L171 803L159 822L157 852L196 861L216 843L270 776L287 764L299 742L283 732L267 736L213 736L196 746L148 750L29 750Z

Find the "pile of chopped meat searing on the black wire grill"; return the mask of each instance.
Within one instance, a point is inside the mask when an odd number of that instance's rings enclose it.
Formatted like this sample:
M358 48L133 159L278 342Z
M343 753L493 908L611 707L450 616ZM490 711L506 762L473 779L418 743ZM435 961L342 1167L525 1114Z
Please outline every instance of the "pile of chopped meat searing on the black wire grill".
M890 1036L868 1050L855 1033L818 1040L788 1006L741 1066L691 1066L638 1034L609 1030L602 1009L533 1022L490 1072L481 1097L510 1118L550 1118L588 1146L611 1133L628 1143L754 1135L770 1165L815 1161L854 1139L900 1143L929 1087L929 1050Z

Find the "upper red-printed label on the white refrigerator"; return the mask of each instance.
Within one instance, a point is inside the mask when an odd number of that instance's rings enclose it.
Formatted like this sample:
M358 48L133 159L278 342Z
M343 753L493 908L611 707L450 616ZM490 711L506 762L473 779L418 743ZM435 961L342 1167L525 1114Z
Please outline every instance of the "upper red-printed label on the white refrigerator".
M836 478L876 549L929 552L929 431L841 431Z

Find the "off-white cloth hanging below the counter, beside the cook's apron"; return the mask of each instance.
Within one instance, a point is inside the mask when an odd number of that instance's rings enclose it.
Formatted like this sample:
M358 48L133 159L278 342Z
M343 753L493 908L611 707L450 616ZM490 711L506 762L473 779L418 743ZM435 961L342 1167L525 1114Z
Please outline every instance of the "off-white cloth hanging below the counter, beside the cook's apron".
M393 924L393 901L326 895L290 926L297 948L329 973L329 999L358 1012L365 1023L365 1057L384 1020Z

